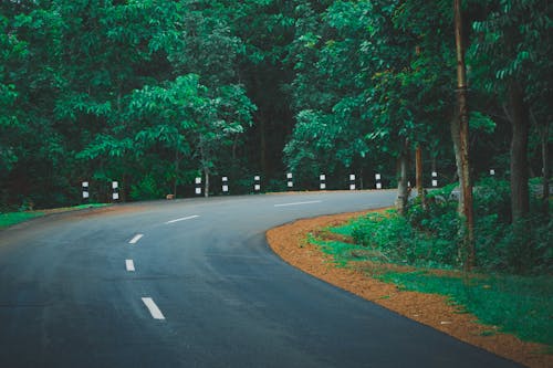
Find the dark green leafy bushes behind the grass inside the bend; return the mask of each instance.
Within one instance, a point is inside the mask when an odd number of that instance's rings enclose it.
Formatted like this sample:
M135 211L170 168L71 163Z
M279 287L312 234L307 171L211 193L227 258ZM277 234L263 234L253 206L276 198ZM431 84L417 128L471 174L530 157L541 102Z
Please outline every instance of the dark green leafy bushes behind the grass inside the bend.
M353 225L358 244L379 250L389 261L422 266L459 267L461 234L455 185L431 191L427 207L411 201L405 217L395 211L372 213ZM486 178L474 186L477 265L484 271L514 274L553 272L553 221L540 213L511 224L509 182ZM534 209L535 208L535 209Z

